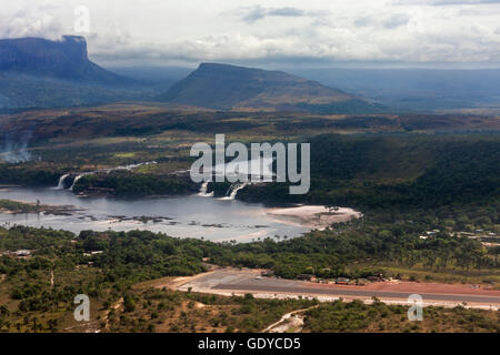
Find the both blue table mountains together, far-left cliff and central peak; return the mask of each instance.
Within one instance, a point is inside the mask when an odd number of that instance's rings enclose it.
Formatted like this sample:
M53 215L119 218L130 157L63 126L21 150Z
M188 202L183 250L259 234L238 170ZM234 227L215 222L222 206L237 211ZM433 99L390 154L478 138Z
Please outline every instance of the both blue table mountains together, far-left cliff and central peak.
M0 40L0 111L127 100L241 111L381 111L358 97L281 71L202 63L172 85L131 79L97 65L89 60L83 37Z

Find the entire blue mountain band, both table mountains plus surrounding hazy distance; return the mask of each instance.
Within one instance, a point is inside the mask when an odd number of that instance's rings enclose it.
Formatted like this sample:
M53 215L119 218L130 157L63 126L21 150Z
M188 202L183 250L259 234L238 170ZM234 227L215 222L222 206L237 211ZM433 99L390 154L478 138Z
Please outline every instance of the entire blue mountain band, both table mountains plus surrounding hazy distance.
M170 67L114 71L89 60L83 37L0 40L0 113L118 101L327 114L500 108L499 69L317 68L290 69L290 74L201 63L192 72Z

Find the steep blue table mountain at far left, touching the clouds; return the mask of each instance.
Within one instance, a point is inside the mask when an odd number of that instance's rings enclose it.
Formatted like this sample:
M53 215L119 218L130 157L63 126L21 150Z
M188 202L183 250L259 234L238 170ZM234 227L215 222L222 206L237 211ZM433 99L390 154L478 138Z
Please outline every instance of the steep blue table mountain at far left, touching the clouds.
M1 112L138 100L140 85L90 61L83 37L0 40Z

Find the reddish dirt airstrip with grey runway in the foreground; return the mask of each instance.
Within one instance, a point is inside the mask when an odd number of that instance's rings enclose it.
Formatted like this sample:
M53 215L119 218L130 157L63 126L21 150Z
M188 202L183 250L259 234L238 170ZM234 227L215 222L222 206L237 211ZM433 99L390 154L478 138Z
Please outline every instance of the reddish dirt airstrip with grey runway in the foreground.
M176 280L173 288L180 291L244 295L251 293L262 298L308 297L320 301L362 300L377 297L386 303L409 304L411 294L419 294L423 305L500 308L500 291L473 288L471 285L436 283L372 283L366 286L317 284L303 281L260 277L259 270L220 268L194 277Z

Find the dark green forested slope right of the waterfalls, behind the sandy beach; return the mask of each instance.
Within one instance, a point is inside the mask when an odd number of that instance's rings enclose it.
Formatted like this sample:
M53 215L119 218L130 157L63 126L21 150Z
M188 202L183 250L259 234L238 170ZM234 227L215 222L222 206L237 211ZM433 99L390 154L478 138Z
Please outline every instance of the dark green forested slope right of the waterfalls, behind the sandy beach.
M433 209L500 197L500 136L320 135L311 141L311 189L250 185L244 201L301 202L357 209Z

